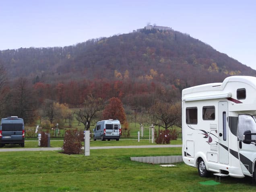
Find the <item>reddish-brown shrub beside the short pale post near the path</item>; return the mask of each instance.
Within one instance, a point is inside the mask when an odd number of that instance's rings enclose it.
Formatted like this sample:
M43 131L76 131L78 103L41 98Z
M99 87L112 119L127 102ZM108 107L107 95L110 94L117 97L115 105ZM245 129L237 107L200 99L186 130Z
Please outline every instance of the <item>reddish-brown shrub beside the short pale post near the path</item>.
M82 143L81 143L81 134L79 134L77 129L71 130L68 129L64 135L64 142L62 150L63 153L71 154L81 154Z

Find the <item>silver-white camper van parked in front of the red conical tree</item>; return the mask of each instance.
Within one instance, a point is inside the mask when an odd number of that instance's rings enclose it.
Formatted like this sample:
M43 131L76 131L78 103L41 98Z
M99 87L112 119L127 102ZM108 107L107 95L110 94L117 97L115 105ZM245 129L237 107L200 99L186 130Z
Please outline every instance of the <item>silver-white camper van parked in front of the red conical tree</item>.
M121 127L119 120L102 120L97 122L93 129L93 140L119 140L121 135Z

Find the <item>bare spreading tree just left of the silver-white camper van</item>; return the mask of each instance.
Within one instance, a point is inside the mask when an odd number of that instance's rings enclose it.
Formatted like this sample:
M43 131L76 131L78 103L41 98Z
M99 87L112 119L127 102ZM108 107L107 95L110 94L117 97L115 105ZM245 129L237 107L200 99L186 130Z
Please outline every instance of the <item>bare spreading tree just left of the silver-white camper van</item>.
M87 99L84 101L84 107L74 111L74 114L76 116L76 120L84 124L85 130L89 130L93 118L95 118L97 112L102 109L103 99L94 98L92 95L88 95Z

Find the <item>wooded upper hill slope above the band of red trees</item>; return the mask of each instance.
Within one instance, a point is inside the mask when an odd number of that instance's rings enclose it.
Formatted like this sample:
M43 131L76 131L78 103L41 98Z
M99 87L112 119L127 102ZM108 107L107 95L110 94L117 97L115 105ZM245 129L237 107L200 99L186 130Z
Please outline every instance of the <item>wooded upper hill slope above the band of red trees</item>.
M256 71L178 31L138 33L91 39L68 47L0 51L10 79L27 76L34 83L83 79L150 80L182 87L220 82L230 75Z

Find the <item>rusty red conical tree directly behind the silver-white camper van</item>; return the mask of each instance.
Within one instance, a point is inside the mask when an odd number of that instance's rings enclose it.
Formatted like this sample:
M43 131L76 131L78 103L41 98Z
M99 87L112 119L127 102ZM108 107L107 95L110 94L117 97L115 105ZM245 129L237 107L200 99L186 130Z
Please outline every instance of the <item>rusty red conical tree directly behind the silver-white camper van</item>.
M124 111L123 103L119 98L112 97L109 99L109 104L106 105L103 111L103 118L120 120L120 123L124 124L126 121L126 114Z

